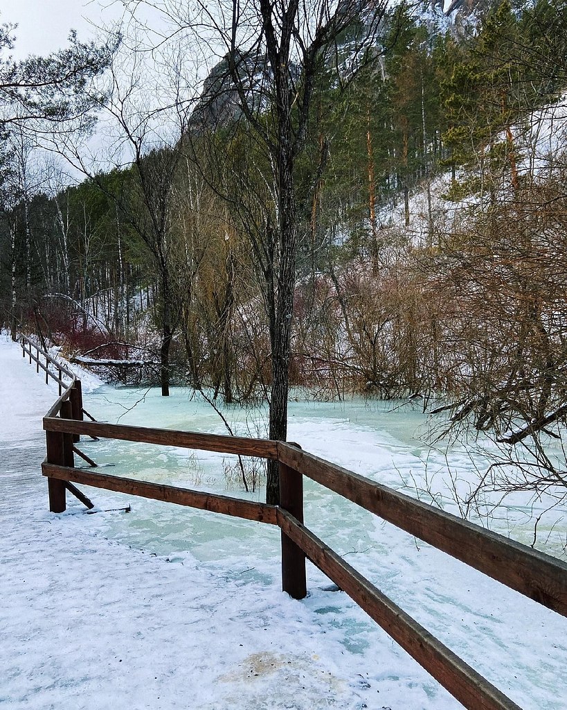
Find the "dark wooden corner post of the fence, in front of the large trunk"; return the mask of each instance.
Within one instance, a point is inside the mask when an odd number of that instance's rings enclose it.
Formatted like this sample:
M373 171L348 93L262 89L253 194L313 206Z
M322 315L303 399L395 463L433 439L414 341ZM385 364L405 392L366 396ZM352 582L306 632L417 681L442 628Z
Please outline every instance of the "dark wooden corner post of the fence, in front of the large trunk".
M279 464L279 504L303 523L303 475ZM307 596L305 553L281 532L281 588L293 599Z

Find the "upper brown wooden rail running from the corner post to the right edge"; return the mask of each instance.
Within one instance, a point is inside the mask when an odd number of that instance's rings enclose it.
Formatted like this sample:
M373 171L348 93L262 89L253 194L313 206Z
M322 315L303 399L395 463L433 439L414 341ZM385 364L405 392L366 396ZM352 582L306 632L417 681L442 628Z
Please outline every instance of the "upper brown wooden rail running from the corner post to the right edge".
M279 460L451 557L567 616L567 564L288 444Z

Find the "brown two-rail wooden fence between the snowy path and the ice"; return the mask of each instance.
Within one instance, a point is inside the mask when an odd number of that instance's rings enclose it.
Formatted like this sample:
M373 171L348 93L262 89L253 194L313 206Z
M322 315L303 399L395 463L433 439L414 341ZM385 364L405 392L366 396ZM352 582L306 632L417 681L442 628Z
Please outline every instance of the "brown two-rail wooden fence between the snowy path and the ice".
M32 348L38 352L35 358L31 355ZM28 339L23 339L22 349L24 356L30 355L30 362L35 359L39 364L41 356L48 368L49 356L45 351L30 344ZM83 421L80 381L60 364L55 363L55 367L59 376L52 373L52 377L60 383L60 388L63 386L61 373L70 376L72 381L60 391L59 399L43 419L47 458L42 471L47 476L50 510L55 513L65 510L67 490L82 496L72 486L76 483L277 525L281 529L284 591L295 599L303 599L307 591L305 559L310 559L466 708L518 710L517 704L305 528L303 476L563 616L567 616L567 564L315 457L296 444ZM48 376L46 369L46 378ZM276 460L279 462L280 505L269 506L79 469L74 466L74 453L80 454L74 442L80 435Z

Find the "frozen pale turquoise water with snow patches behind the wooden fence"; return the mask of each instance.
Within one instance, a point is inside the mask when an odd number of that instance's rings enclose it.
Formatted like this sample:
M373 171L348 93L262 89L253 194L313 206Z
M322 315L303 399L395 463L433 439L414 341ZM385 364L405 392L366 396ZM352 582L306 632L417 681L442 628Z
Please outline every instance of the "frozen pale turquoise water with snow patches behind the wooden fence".
M88 395L86 408L108 422L226 433L210 405L182 388L162 398L155 389L104 387ZM461 447L430 449L422 441L427 417L410 405L293 401L289 413L288 438L303 449L427 502L434 498L454 513L459 507L453 491L468 491L485 465ZM235 434L264 435L263 410L225 408L223 414ZM242 491L235 459L225 454L115 441L83 441L80 446L99 464L110 464L112 474L252 500L264 497L263 488ZM98 503L101 491L91 489L89 495ZM279 531L271 526L106 492L104 501L106 507L132 506L129 515L103 518L111 538L173 563L195 557L230 581L253 581L266 589L280 583ZM486 507L478 510L480 518L472 518L530 544L534 518L545 507L546 501L522 494L488 518ZM564 513L556 508L539 527L543 549L556 556L565 545ZM520 706L567 708L565 618L307 479L305 523ZM361 655L364 667L378 660L374 623L344 594L333 593L328 579L310 565L308 589L305 605L330 633L339 634L345 651Z

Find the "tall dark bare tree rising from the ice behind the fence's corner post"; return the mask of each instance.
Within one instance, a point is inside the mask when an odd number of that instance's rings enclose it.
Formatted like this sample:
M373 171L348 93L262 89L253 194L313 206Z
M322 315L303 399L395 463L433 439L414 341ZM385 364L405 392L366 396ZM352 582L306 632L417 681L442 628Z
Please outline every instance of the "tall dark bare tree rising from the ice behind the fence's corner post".
M305 148L319 72L334 67L348 82L376 55L376 35L385 2L360 0L217 0L187 6L180 0L128 2L135 16L152 6L174 32L198 35L216 80L203 94L203 121L210 110L228 123L239 121L254 134L267 166L273 204L261 230L250 232L263 276L271 342L269 436L287 437L293 293L298 249L296 166ZM341 40L348 40L341 44ZM204 48L204 49L203 49ZM266 499L279 501L277 466L269 465Z

